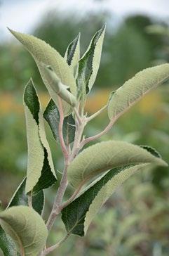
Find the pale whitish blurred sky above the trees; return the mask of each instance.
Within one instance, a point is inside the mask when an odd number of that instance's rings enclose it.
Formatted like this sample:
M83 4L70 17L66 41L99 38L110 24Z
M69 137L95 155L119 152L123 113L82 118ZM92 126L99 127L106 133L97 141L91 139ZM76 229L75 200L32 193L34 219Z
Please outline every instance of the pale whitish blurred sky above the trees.
M169 0L0 0L0 39L10 37L6 27L29 32L43 13L53 8L81 15L102 8L112 11L116 18L142 13L169 20Z

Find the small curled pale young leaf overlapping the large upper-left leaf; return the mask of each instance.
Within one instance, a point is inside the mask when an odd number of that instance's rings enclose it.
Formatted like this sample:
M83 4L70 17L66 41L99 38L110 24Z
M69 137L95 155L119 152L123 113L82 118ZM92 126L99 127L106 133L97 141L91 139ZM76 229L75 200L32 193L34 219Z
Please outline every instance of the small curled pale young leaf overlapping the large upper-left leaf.
M72 105L72 107L74 107L76 105L76 97L68 91L69 87L67 87L67 85L65 84L62 84L60 78L55 74L50 66L47 66L43 63L41 63L41 66L43 66L43 72L48 79L50 89L52 89L55 94L60 96L60 98L66 101L69 105Z

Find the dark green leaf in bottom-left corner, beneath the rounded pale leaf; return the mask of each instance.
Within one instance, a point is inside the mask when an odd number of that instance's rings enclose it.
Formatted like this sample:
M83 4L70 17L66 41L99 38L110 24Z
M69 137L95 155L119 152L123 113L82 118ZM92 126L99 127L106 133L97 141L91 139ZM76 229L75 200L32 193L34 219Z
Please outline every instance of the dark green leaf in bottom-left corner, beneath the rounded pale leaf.
M2 229L1 226L0 226L0 248L2 252L4 252L4 256L18 256L15 243L13 242L11 237L5 233L4 229Z

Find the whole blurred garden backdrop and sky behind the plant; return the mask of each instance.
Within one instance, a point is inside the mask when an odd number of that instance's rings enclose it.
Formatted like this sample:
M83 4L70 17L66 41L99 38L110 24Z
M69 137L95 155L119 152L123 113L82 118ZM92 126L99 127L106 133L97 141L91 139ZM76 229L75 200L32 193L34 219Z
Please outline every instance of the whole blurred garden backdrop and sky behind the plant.
M34 79L43 108L48 94L34 60L10 37L6 26L44 39L65 54L67 45L81 31L81 55L93 34L107 23L102 60L95 87L86 104L88 114L107 102L109 92L143 68L169 60L168 1L140 1L142 11L130 1L1 1L0 2L0 200L6 207L15 188L25 177L27 139L22 94L29 77ZM92 3L92 4L91 4ZM150 6L147 5L150 3ZM45 5L46 4L46 5ZM50 5L51 4L51 5ZM65 6L65 8L58 8ZM161 6L162 5L162 6ZM42 8L43 6L43 8ZM48 7L48 8L46 8ZM127 7L126 7L127 8ZM131 8L131 12L130 12ZM140 11L141 10L141 11ZM156 10L156 11L154 11ZM25 13L22 13L25 11ZM159 11L159 13L158 13ZM17 15L18 12L18 15ZM152 14L151 14L152 12ZM39 19L35 18L38 13ZM157 15L158 13L158 15ZM18 20L18 23L17 23ZM30 23L30 26L29 26ZM146 96L123 115L102 139L118 139L156 148L169 162L169 85ZM108 122L107 113L93 120L87 135L99 132ZM46 125L55 169L62 169L60 148ZM58 174L59 176L60 174ZM46 191L46 217L57 190ZM71 188L67 196L71 193ZM169 255L169 169L146 169L114 193L95 217L86 238L68 238L53 255L168 256ZM49 243L65 233L55 224ZM1 252L0 252L1 255ZM52 255L52 254L51 254Z

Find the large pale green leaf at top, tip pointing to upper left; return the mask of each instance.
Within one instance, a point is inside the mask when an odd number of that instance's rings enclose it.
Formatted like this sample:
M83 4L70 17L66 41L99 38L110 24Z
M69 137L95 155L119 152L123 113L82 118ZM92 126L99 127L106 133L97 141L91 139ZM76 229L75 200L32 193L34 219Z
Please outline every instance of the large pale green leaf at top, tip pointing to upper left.
M74 79L73 72L71 68L69 68L65 58L60 56L58 51L53 49L49 44L46 44L45 41L33 37L32 35L22 34L20 32L15 32L14 30L10 30L10 32L14 37L16 37L16 39L18 39L18 41L20 41L21 44L23 44L23 46L25 46L27 51L31 53L37 67L39 68L43 82L46 85L51 98L53 98L53 101L56 104L58 104L58 95L50 87L50 81L48 81L48 77L46 77L46 72L44 70L44 65L41 65L41 63L50 65L55 74L60 78L62 84L69 85L70 91L76 96L76 81ZM70 106L67 105L67 103L65 103L64 106L65 115L71 113L72 110Z

